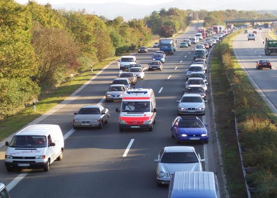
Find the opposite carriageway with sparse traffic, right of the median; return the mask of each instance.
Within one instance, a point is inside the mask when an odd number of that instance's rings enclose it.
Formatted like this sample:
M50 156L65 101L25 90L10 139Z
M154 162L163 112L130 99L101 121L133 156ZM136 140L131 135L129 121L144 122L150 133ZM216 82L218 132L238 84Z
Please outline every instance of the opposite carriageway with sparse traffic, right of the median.
M247 74L253 79L252 84L262 91L265 99L270 101L268 105L277 115L277 56L265 55L263 41L268 37L268 29L250 29L248 32L252 33L254 30L257 31L255 41L247 41L247 33L240 33L235 38L235 52ZM257 70L255 62L259 59L270 59L273 64L272 69Z

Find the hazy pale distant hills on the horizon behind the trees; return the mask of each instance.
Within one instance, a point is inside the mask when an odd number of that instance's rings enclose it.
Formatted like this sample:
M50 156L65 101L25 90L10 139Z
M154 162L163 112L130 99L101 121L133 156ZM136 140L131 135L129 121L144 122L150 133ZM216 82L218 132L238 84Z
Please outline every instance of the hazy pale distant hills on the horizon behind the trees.
M76 0L77 1L77 0ZM215 1L215 2L212 2ZM225 10L225 9L240 9L240 10L255 10L264 11L272 4L272 0L251 0L245 2L242 0L232 0L226 3L225 1L217 0L173 0L171 2L160 3L155 5L139 5L132 3L64 3L53 4L53 8L65 8L66 10L79 10L85 8L88 13L95 13L96 15L103 15L108 19L114 19L117 16L123 16L124 19L143 18L150 15L154 10L161 8L168 9L170 7L177 7L179 9L201 10ZM240 5L238 7L238 5ZM277 10L273 11L276 15Z

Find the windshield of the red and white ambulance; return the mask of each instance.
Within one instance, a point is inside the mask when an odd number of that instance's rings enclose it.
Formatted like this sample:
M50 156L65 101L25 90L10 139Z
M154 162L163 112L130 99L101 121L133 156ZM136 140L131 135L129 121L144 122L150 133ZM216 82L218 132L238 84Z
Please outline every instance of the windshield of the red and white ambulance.
M149 101L123 101L122 112L150 112Z

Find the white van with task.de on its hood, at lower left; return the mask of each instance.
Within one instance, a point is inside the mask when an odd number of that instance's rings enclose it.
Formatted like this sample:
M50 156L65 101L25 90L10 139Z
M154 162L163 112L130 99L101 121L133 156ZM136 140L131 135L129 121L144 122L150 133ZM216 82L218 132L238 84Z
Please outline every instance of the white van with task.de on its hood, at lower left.
M64 142L58 125L30 125L17 132L5 143L7 171L15 168L43 168L49 171L50 164L62 160Z

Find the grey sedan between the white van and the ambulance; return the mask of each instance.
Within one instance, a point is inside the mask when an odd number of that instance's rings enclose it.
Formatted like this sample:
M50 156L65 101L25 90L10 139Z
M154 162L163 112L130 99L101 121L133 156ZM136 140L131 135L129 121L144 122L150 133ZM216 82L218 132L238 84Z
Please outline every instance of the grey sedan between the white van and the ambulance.
M74 113L73 129L79 127L103 128L104 123L109 122L109 110L102 105L83 106L78 113Z

